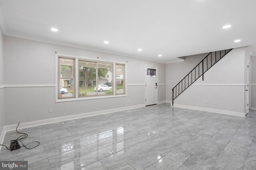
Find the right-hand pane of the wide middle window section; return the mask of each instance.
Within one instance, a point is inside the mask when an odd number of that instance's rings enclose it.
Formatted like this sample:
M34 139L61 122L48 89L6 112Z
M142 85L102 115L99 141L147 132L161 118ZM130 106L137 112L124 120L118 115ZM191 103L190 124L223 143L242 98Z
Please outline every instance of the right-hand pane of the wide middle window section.
M98 95L113 95L112 64L98 63Z

